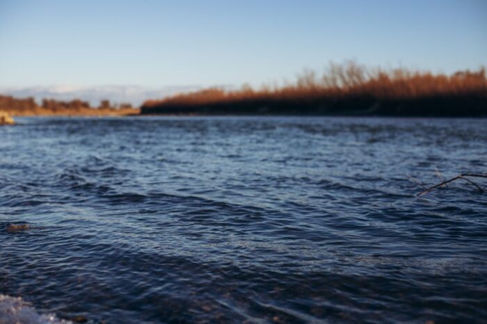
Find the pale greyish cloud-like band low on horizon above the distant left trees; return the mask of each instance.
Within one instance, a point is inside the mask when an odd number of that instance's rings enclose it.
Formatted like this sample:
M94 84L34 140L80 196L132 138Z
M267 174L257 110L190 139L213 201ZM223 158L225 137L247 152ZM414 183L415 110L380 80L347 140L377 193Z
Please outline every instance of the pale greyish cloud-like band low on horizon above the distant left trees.
M108 99L116 104L129 103L141 106L147 99L162 99L182 92L201 90L201 86L167 86L146 88L141 86L38 86L27 88L0 88L0 94L17 98L33 97L36 102L42 99L72 100L81 99L91 106L98 106L100 100Z

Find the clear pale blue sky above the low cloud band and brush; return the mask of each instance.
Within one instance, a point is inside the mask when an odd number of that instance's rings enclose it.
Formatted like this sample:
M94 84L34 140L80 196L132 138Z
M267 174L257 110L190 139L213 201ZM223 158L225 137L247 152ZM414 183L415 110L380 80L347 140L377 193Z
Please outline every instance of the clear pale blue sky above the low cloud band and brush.
M486 0L0 0L0 86L260 85L487 65Z

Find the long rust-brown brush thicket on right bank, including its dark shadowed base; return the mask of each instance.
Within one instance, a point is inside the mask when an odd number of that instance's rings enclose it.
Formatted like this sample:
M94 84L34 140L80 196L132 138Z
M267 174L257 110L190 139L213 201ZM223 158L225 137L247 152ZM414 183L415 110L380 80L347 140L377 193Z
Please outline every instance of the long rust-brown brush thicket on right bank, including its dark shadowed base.
M148 100L141 113L487 115L486 70L445 75L331 64L323 76L305 71L285 86L209 88Z

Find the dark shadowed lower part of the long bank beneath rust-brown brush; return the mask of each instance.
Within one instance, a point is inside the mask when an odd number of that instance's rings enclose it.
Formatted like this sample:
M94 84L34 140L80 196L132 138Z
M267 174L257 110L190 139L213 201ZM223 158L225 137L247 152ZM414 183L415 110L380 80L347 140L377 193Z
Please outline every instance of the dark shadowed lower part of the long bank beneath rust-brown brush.
M389 117L487 117L487 98L424 97L255 99L209 104L142 106L141 115L328 115Z

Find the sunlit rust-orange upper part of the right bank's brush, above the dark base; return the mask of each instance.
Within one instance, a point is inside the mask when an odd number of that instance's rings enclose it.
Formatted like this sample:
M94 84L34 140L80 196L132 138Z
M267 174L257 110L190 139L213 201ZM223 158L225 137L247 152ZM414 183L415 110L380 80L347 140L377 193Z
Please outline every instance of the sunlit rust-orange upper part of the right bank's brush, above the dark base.
M254 89L246 85L239 90L225 91L221 88L208 88L198 92L175 95L160 100L147 100L147 108L177 106L189 107L208 105L227 105L260 102L261 104L280 102L314 102L330 104L343 100L390 102L418 99L448 98L487 98L486 70L456 72L451 75L431 72L410 71L406 69L381 68L368 69L363 65L348 62L343 65L330 64L328 70L319 75L305 70L295 83L284 86L264 86Z

